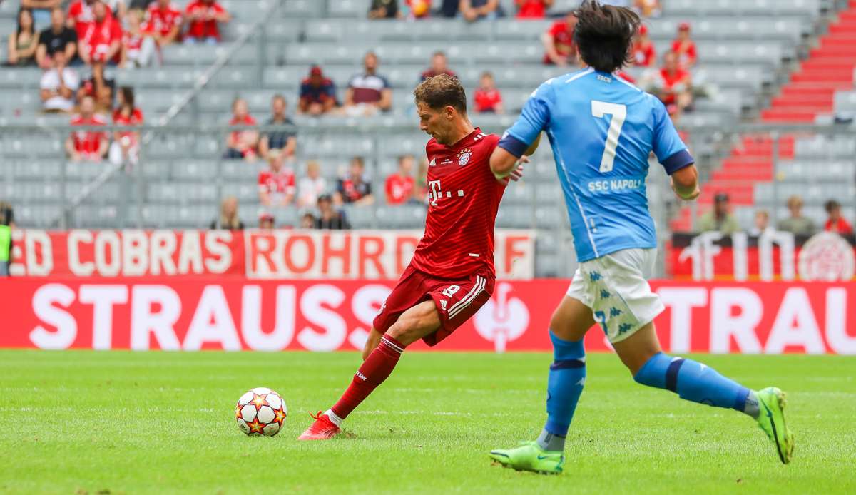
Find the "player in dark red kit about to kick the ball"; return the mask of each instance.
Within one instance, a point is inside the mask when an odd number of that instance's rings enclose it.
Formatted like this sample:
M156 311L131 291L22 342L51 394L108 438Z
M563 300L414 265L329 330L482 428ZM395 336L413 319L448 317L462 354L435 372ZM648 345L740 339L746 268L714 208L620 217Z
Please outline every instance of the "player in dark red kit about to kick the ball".
M437 345L490 299L496 272L493 227L508 181L490 171L499 136L473 128L467 95L449 75L423 81L413 92L419 128L432 138L428 156L428 215L413 260L372 323L363 364L348 390L301 440L333 438L342 420L389 377L408 345ZM526 161L525 159L523 161ZM515 169L513 180L522 169Z

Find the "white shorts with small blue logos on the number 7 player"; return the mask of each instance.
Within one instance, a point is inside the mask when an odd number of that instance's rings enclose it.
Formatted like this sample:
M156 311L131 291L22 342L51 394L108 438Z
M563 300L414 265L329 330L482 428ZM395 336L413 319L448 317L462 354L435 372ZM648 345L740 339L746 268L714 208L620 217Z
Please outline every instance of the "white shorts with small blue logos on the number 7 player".
M639 248L584 261L574 273L568 297L591 307L609 342L621 342L665 309L648 285L656 262L657 249Z

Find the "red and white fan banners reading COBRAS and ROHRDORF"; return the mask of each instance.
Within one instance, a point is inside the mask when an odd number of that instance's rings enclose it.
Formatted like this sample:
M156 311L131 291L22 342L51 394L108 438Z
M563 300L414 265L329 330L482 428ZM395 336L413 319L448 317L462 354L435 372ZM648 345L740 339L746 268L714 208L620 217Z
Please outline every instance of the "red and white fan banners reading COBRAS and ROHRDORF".
M15 230L15 277L395 280L416 230ZM528 279L532 230L496 230L496 276Z

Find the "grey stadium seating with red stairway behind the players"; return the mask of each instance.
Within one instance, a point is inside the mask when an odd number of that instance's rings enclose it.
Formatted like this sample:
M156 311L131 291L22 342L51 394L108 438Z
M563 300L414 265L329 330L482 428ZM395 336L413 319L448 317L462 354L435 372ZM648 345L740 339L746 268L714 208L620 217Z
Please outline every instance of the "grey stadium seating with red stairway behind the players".
M485 70L495 75L506 113L472 116L475 124L490 132L501 133L513 122L532 88L569 70L545 66L541 60L540 36L555 19L506 17L472 24L439 18L370 21L368 2L360 0L284 0L279 8L276 0L221 3L233 21L223 26L220 45L169 46L163 52L163 66L115 70L117 86L134 86L146 122L159 122L170 110L181 110L169 119L170 126L178 127L152 130L151 140L140 151L139 168L110 175L65 216L68 201L107 166L65 163L62 139L68 131L62 126L68 116L39 114L39 69L0 69L0 126L6 129L0 134L0 197L15 203L20 224L199 227L210 221L226 195L240 200L246 224L256 224L260 209L256 177L265 164L221 158L230 105L236 97L245 98L250 113L264 122L270 98L282 93L293 115L300 82L314 64L336 84L341 100L348 80L360 73L366 51L374 51L380 61L378 74L393 89L393 109L360 118L294 116L298 146L291 166L299 180L306 160L317 158L327 182L336 184L348 159L362 156L375 187L382 187L395 170L399 155L424 155L426 136L416 128L411 92L435 51L446 53L470 95ZM549 14L561 16L576 3L556 1ZM514 10L511 2L503 4L507 11ZM823 122L853 114L856 2L838 13L816 48L806 49L823 33L836 5L840 3L833 0L669 0L663 2L661 16L646 21L658 60L669 50L681 22L690 23L698 45L693 86L703 91L693 111L678 123L710 182L698 211L678 210L673 229L692 229L694 214L704 212L721 188L728 189L746 227L754 206L781 210L792 189L800 189L807 214L818 223L823 217L819 207L829 195L841 201L845 217L853 218L852 136L788 134L774 146L769 137L747 135L736 141L739 146L728 145L734 142L735 126L758 115L761 122L781 123ZM14 28L17 6L15 0L0 3L0 53L5 52L5 34ZM274 13L267 16L270 8ZM807 58L802 59L804 55ZM788 75L794 67L798 69ZM644 81L645 70L627 72ZM787 84L780 89L782 82ZM179 106L187 94L193 98ZM817 176L821 160L832 165ZM539 230L540 275L561 272L556 266L565 256L558 253L569 239L554 175L549 151L539 150L525 182L509 188L498 218L502 227ZM800 188L806 177L817 186ZM774 179L782 181L781 188L771 186ZM662 175L651 177L652 209L661 230L671 207L663 199L669 196L664 183ZM825 183L835 189L820 185ZM354 227L421 226L422 206L387 206L383 194L377 198L375 206L348 208ZM276 212L276 224L297 224L299 215L294 207L282 209Z

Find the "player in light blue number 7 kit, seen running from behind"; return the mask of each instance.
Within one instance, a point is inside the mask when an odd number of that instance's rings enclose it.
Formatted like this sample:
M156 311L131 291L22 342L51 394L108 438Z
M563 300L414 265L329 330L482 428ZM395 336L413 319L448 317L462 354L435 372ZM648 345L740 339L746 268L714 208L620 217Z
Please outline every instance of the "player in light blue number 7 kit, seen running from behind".
M785 424L782 391L752 391L660 349L653 320L664 307L647 282L657 253L645 195L648 156L654 152L684 200L698 197L698 173L663 103L615 74L629 58L639 16L591 1L576 16L574 41L587 69L532 92L490 157L494 174L505 176L520 156L532 154L541 132L547 134L580 263L550 320L554 361L544 429L537 440L492 450L490 458L518 470L562 472L565 437L586 382L583 337L597 323L634 380L752 416L787 464L794 435Z

